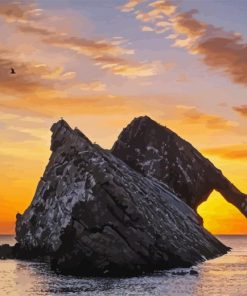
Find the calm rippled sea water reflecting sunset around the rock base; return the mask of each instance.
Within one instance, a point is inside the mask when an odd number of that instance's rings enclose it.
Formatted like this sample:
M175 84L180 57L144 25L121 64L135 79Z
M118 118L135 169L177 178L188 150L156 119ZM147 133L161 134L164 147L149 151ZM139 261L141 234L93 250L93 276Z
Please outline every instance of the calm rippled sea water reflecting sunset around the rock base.
M247 236L218 238L232 247L232 251L196 266L194 269L198 276L179 276L172 275L171 271L162 271L122 279L80 278L57 275L44 263L2 260L0 295L246 296ZM0 236L2 243L13 244L14 238Z

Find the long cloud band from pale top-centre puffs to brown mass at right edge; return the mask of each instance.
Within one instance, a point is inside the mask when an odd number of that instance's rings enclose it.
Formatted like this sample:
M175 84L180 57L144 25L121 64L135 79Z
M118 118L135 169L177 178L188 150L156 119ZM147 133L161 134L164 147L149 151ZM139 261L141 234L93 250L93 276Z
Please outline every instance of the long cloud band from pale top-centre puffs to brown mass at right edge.
M173 46L199 55L211 69L223 72L235 83L247 85L247 43L241 34L198 20L195 9L181 12L172 1L148 1L146 8L135 14L138 20L156 27L164 22L163 32L171 31L167 38L174 40ZM154 32L160 33L156 29Z

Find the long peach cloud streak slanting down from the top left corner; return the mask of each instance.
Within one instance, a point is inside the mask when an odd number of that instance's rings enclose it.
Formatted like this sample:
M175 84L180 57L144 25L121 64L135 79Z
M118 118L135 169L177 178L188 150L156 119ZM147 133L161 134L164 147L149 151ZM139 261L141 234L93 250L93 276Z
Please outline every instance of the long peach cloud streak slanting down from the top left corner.
M130 1L126 9L134 8L142 1ZM89 39L73 36L68 32L59 32L47 27L44 20L47 15L38 9L32 2L17 1L0 4L0 16L7 20L12 17L14 25L23 34L33 35L46 45L68 49L79 55L84 55L93 60L101 69L107 69L114 75L124 77L143 77L156 75L154 64L149 62L134 61L129 55L133 49L123 47L124 40ZM43 24L42 24L43 21ZM114 59L114 63L112 60ZM150 68L150 69L148 69Z

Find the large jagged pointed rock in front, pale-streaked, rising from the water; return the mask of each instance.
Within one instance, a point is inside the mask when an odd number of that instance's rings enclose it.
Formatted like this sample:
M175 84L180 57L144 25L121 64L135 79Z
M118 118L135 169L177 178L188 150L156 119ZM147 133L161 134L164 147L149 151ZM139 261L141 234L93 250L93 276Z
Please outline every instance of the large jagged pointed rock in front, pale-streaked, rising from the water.
M31 205L17 215L19 256L49 255L63 272L117 276L190 266L227 252L163 183L63 120L51 130L49 163Z

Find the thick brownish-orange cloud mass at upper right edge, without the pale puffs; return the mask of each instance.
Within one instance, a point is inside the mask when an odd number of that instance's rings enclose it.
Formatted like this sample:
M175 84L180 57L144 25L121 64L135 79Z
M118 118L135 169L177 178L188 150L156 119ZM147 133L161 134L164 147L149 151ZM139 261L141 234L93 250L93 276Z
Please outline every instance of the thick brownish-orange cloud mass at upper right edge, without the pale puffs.
M198 21L196 11L182 13L172 19L175 46L185 47L192 54L202 56L210 68L221 70L233 82L247 85L247 44L238 33Z

